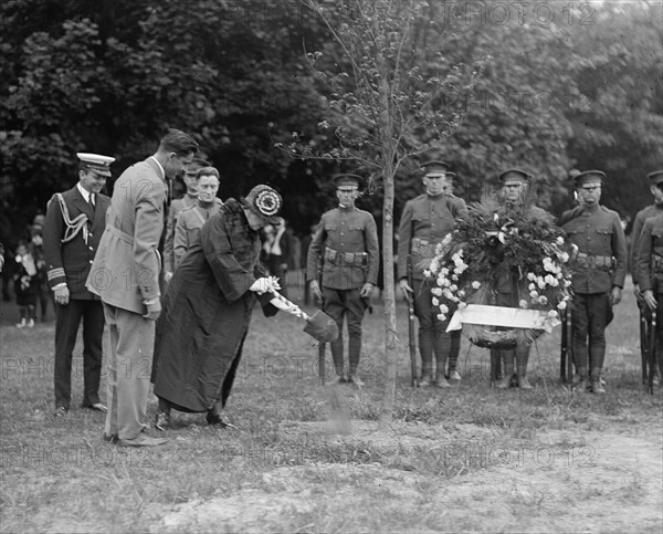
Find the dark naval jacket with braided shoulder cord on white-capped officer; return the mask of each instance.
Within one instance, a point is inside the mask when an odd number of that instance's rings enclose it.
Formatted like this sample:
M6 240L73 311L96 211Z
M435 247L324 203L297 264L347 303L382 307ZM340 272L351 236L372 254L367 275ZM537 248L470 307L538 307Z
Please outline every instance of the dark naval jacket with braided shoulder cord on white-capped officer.
M46 262L46 276L51 289L57 284L66 283L70 299L92 300L93 295L85 281L90 268L97 252L104 228L106 226L106 211L110 199L105 195L95 196L94 211L76 186L62 193L69 211L69 219L75 220L81 213L87 216L85 229L66 243L62 242L67 230L60 201L53 196L49 200L46 220L43 229L44 260Z

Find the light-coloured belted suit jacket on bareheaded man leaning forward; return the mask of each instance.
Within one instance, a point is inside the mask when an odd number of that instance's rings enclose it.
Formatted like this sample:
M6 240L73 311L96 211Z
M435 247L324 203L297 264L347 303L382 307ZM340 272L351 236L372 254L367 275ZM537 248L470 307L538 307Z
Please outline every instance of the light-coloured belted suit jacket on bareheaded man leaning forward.
M158 251L168 195L154 158L133 165L115 182L106 230L87 286L106 304L145 314L144 301L160 296Z

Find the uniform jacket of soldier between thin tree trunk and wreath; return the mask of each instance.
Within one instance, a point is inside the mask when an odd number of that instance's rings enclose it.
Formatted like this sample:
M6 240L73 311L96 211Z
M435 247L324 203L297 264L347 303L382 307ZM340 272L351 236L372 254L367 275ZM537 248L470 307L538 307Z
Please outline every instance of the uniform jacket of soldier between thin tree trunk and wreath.
M425 260L434 258L438 243L453 231L455 220L466 216L465 201L453 195L420 195L408 200L398 230L398 278L408 275L411 252L412 275L423 280L423 271L428 269Z

